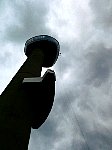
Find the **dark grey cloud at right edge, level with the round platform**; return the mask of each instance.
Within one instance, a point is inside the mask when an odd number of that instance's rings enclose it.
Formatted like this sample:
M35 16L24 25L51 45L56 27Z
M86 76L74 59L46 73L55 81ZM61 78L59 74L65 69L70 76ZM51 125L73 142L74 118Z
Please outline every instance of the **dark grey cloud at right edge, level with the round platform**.
M89 49L86 59L88 60L88 70L86 74L86 83L92 83L100 86L108 81L112 72L112 49L106 48L103 43L92 45Z

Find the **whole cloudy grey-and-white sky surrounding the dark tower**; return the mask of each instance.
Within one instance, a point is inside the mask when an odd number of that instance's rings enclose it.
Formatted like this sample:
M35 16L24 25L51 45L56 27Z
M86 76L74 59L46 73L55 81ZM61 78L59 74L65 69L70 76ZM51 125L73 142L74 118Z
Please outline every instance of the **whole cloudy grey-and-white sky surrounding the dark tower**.
M26 60L26 40L39 34L55 37L62 54L53 109L29 150L111 150L112 1L1 0L1 93Z

